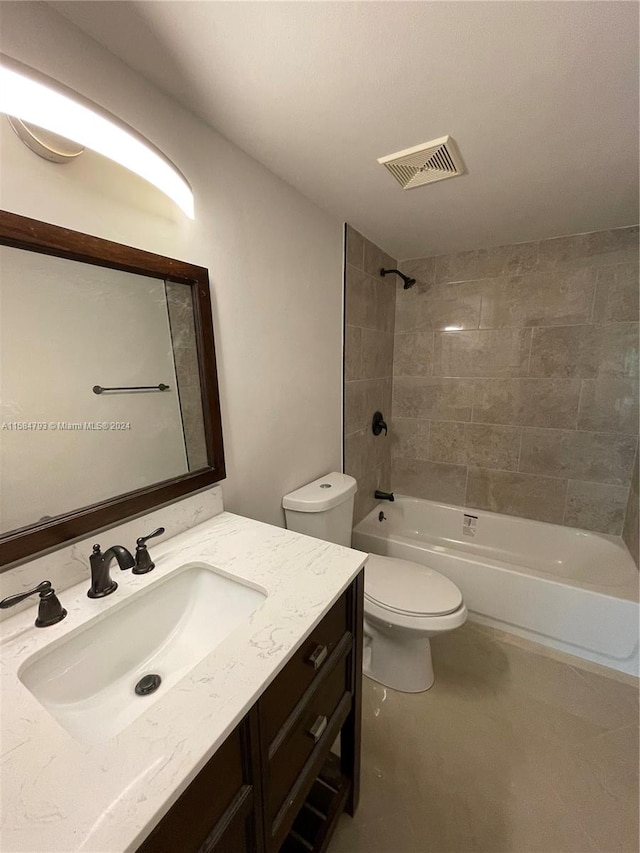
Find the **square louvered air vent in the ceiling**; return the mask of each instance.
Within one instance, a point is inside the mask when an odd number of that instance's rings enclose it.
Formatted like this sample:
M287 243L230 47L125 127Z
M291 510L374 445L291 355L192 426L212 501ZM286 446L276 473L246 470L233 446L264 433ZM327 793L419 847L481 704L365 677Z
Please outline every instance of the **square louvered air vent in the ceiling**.
M464 172L464 161L450 136L441 136L406 151L380 157L378 163L386 166L405 190L444 181L445 178L456 178Z

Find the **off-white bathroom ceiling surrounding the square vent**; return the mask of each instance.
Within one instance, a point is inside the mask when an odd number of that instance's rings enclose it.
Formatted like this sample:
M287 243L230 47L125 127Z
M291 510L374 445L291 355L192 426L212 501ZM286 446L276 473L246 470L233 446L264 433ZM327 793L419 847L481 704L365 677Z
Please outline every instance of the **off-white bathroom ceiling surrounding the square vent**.
M53 2L398 258L638 221L634 2ZM451 134L468 174L376 159Z

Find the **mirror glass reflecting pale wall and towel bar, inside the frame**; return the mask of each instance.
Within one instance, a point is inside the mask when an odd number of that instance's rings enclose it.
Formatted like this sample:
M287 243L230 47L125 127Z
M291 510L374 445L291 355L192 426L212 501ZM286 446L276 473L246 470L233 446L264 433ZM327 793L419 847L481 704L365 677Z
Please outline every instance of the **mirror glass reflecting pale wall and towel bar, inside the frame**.
M191 288L1 246L0 414L3 533L204 467Z

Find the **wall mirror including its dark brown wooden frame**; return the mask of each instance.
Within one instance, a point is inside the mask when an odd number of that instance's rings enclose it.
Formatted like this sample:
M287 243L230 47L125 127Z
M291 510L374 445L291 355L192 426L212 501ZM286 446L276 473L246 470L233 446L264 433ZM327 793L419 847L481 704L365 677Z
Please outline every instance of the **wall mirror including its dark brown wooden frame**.
M0 211L0 566L225 476L203 267Z

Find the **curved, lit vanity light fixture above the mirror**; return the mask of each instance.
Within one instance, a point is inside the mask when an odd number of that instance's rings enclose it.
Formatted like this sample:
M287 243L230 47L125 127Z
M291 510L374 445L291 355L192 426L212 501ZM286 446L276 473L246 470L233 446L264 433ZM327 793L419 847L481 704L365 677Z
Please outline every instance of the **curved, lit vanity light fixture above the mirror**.
M44 129L135 172L194 218L188 181L149 140L72 89L4 54L0 54L0 113L10 117L20 139L41 157L60 163L82 153L72 153L68 142L61 151L57 144L61 140L52 144L40 132Z

